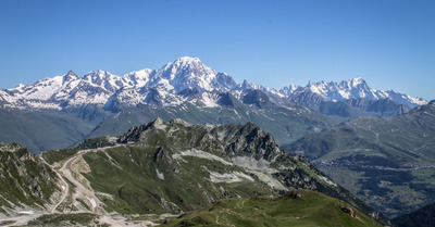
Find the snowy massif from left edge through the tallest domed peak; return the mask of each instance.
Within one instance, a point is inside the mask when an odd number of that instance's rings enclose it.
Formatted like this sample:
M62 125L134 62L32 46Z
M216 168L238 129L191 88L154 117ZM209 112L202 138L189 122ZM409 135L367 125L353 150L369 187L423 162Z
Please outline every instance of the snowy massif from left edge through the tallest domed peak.
M229 91L236 86L231 76L216 73L198 58L183 56L160 70L140 70L123 75L92 71L77 76L73 71L34 85L1 90L3 106L62 109L83 104L132 102L181 103L187 96L202 91ZM110 98L110 99L109 99ZM162 100L158 100L162 99ZM164 99L164 100L163 100Z

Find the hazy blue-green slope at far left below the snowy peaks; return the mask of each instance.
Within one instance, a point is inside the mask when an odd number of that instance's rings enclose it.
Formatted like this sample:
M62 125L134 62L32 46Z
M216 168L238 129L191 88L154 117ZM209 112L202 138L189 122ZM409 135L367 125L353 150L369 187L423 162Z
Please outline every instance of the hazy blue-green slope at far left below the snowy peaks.
M82 141L109 115L98 106L69 111L0 109L0 141L18 142L33 153Z

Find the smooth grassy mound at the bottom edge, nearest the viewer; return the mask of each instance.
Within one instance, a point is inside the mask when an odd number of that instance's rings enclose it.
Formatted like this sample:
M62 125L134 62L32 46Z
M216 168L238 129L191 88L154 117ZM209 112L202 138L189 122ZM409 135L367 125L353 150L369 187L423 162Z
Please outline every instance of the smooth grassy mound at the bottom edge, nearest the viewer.
M299 197L300 196L300 197ZM188 213L167 226L381 226L348 204L309 190L278 198L227 199L207 210Z

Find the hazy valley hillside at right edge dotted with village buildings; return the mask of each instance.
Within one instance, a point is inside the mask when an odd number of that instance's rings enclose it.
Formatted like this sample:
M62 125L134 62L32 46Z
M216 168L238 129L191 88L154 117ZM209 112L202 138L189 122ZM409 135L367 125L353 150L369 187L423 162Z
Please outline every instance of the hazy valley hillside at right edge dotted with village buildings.
M435 101L393 118L350 119L286 150L389 216L434 202Z

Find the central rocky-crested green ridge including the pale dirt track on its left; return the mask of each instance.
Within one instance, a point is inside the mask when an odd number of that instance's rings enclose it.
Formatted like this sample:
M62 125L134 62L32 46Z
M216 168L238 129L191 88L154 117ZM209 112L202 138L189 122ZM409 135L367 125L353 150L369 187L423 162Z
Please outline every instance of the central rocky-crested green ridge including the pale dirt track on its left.
M80 149L82 148L82 149ZM50 210L28 210L30 225L150 224L229 198L310 189L387 220L299 155L282 151L253 124L190 125L160 118L122 137L44 152L62 194ZM85 149L85 150L83 150ZM4 193L11 193L5 191ZM22 214L4 214L13 223Z

